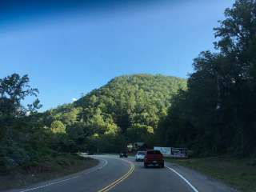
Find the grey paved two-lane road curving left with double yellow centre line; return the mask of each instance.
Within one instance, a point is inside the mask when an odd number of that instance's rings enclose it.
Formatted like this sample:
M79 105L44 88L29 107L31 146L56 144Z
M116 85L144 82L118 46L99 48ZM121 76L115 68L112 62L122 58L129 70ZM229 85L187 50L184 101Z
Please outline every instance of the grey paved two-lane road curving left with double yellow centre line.
M131 191L181 191L181 192L227 192L234 191L206 178L202 174L166 162L166 167L147 168L134 158L121 159L114 155L95 155L98 166L64 178L42 182L11 192L131 192Z

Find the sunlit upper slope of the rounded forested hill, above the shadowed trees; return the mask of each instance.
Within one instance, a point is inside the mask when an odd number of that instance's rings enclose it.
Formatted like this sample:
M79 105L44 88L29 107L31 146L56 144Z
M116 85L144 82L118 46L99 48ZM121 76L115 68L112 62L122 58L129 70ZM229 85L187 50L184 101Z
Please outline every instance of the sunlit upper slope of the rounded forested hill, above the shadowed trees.
M186 88L186 80L163 75L137 74L112 79L98 90L80 98L74 106L81 106L82 119L94 115L114 122L125 132L135 124L157 126L158 118L166 114L170 98ZM80 119L81 120L81 119Z

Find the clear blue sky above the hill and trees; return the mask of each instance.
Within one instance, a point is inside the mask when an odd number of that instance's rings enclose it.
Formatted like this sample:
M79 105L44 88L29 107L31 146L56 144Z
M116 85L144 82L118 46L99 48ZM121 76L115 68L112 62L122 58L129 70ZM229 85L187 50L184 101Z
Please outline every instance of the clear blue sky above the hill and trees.
M0 78L29 74L42 110L72 102L122 74L187 78L193 58L213 50L213 27L233 3L11 7L0 20Z

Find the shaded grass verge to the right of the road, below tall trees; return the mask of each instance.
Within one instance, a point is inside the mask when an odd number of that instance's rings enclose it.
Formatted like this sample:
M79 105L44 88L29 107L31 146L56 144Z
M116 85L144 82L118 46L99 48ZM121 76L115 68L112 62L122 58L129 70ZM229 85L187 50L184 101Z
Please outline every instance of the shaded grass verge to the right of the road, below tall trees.
M234 158L189 158L166 161L197 170L202 174L233 186L239 191L256 191L256 162L251 159Z

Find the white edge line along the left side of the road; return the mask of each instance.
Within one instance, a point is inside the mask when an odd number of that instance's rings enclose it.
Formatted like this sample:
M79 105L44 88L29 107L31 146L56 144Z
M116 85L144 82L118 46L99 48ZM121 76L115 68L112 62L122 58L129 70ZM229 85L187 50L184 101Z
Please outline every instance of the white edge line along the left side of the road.
M104 161L103 165L100 166L100 167L98 167L98 168L95 169L95 170L90 170L90 171L88 171L88 172L86 172L86 173L81 173L81 174L79 174L79 175L77 175L77 176L74 176L74 177L71 177L71 178L62 179L62 180L59 180L59 181L56 181L56 182L49 182L49 183L47 183L47 184L45 184L45 185L43 185L43 186L37 186L37 187L30 188L30 189L26 189L26 190L19 190L19 192L27 192L27 191L31 191L31 190L38 190L38 189L44 188L44 187L46 187L46 186L52 186L52 185L58 184L58 183L60 183L60 182L66 182L66 181L69 181L69 180L74 179L74 178L80 178L80 177L82 177L82 176L85 175L85 174L90 174L90 173L93 173L93 172L95 172L95 171L97 171L97 170L102 170L102 168L103 168L104 166L106 166L107 163L108 163L108 162L106 161L106 159L103 159L103 161Z

